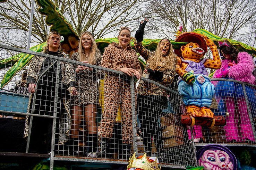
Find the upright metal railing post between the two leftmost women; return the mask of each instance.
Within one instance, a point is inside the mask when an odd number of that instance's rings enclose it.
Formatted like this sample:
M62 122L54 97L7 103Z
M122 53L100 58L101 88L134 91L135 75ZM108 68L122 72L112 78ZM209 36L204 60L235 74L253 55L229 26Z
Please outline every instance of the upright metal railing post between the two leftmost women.
M55 132L56 132L56 120L58 112L58 93L59 93L59 83L60 83L60 60L57 61L56 70L56 84L55 84L55 94L54 94L54 112L52 120L52 142L51 142L51 159L50 159L50 170L53 170L53 155L54 155L54 144L55 144Z

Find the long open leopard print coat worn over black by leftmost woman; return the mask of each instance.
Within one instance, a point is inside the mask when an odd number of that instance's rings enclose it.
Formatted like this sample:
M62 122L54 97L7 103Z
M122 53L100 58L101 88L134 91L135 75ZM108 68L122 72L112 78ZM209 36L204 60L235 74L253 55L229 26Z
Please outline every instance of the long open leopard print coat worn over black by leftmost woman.
M42 53L48 54L49 52L45 51ZM65 57L69 59L69 57L63 55L63 53L60 53L60 52L59 52L59 57ZM35 79L35 81L37 81L37 79L39 78L40 69L42 67L44 60L45 60L44 57L34 56L31 60L31 63L28 65L27 77L31 76ZM72 64L60 61L60 67L61 67L61 74L62 74L61 82L66 85L70 84L71 82L75 82L75 72L72 67ZM27 113L29 113L30 111L31 98L32 98L32 95L29 96ZM69 100L64 100L64 105L68 114L66 119L60 119L61 121L63 121L63 122L60 122L60 126L62 126L60 127L60 134L59 134L60 143L68 139L68 132L71 129L71 116L70 116L69 103L70 103ZM26 116L24 138L28 135L28 130L29 130L29 116Z

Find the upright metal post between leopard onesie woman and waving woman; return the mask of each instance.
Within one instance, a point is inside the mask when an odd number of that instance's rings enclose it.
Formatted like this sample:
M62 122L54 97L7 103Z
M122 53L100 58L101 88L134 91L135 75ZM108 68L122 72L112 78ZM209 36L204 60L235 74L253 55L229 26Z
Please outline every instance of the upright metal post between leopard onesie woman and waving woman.
M132 120L133 120L133 150L138 151L137 148L137 115L136 115L136 100L135 100L135 88L134 88L134 77L131 77L131 112L132 112ZM138 153L136 152L138 156Z

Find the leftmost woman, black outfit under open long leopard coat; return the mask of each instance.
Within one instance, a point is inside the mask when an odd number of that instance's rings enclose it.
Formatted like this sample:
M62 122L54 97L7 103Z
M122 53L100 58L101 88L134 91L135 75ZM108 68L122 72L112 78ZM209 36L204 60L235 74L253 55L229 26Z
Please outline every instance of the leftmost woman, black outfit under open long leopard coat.
M63 55L60 46L60 34L50 32L47 36L47 45L44 47L44 54L68 58ZM35 100L34 114L54 115L54 99L56 81L59 81L59 93L57 104L57 117L60 113L69 113L68 100L62 98L62 92L72 89L71 95L76 95L75 73L70 63L60 61L60 75L57 75L57 61L52 58L34 56L27 69L28 90L32 94L29 98L28 113L31 113L32 99ZM60 79L56 80L56 77ZM67 89L61 89L65 85ZM65 111L65 108L67 111ZM58 132L56 132L58 134ZM46 139L45 139L46 134ZM24 136L28 135L28 116L26 117ZM52 119L43 117L33 117L30 138L31 152L46 152L51 149ZM46 141L46 145L43 142Z

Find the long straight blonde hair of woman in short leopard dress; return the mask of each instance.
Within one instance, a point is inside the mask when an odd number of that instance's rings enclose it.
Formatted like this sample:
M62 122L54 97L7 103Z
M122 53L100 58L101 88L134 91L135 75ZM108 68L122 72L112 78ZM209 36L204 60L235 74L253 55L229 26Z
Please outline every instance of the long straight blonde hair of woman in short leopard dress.
M82 38L85 34L88 35L92 40L92 46L91 46L91 50L89 52L88 57L85 56L84 48L82 46ZM88 31L82 32L82 34L80 35L78 47L79 47L78 55L79 55L80 62L87 61L89 64L95 65L96 64L95 55L96 55L96 52L100 53L100 50L97 48L97 44L96 44L95 39L94 39L93 35L91 34L91 32L88 32Z

